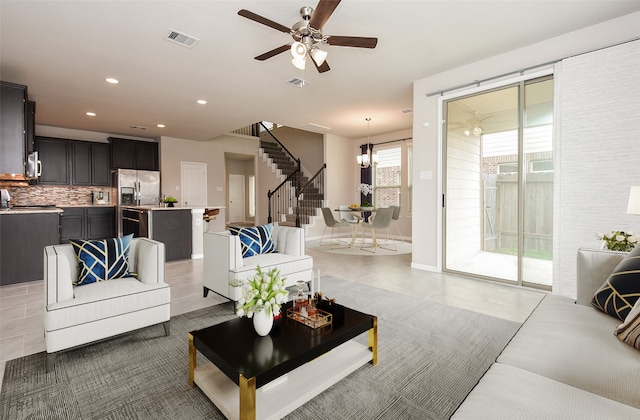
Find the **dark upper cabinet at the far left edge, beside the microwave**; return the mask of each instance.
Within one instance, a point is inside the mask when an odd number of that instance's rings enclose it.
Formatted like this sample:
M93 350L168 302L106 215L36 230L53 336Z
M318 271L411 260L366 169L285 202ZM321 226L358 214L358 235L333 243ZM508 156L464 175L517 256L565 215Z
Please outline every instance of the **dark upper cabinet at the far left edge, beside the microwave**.
M27 87L0 82L0 173L24 174Z

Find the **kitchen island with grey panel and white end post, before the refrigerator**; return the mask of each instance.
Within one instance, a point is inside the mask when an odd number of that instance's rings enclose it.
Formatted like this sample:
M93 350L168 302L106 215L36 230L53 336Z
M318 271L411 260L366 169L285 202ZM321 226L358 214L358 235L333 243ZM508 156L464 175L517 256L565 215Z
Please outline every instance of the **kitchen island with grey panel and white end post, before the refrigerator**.
M202 258L204 207L123 206L122 214L122 234L164 243L166 261Z

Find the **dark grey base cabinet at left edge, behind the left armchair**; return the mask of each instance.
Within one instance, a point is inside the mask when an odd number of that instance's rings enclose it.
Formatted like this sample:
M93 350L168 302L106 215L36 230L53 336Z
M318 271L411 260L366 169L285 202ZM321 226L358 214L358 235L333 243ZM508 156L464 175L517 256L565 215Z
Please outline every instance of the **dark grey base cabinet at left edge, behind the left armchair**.
M44 247L59 241L58 213L0 215L0 286L42 280Z

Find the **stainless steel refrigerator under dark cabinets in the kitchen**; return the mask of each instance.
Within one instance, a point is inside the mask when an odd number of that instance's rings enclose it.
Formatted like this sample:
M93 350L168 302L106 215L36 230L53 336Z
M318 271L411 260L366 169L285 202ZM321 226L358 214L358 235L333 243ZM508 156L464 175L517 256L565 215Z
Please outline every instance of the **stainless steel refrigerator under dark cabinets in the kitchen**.
M160 193L160 172L117 169L113 171L113 185L118 197L118 235L122 231L122 207L157 206Z

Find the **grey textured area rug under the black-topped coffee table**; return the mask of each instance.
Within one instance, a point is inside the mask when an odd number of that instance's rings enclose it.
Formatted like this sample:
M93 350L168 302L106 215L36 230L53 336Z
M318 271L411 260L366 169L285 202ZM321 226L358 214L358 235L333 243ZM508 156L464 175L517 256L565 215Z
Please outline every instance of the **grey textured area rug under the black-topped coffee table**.
M379 362L287 419L447 419L520 325L329 276L322 284L338 302L378 316ZM232 317L231 303L178 315L169 337L153 326L68 351L49 374L44 353L10 360L0 418L222 419L187 384L187 332Z

